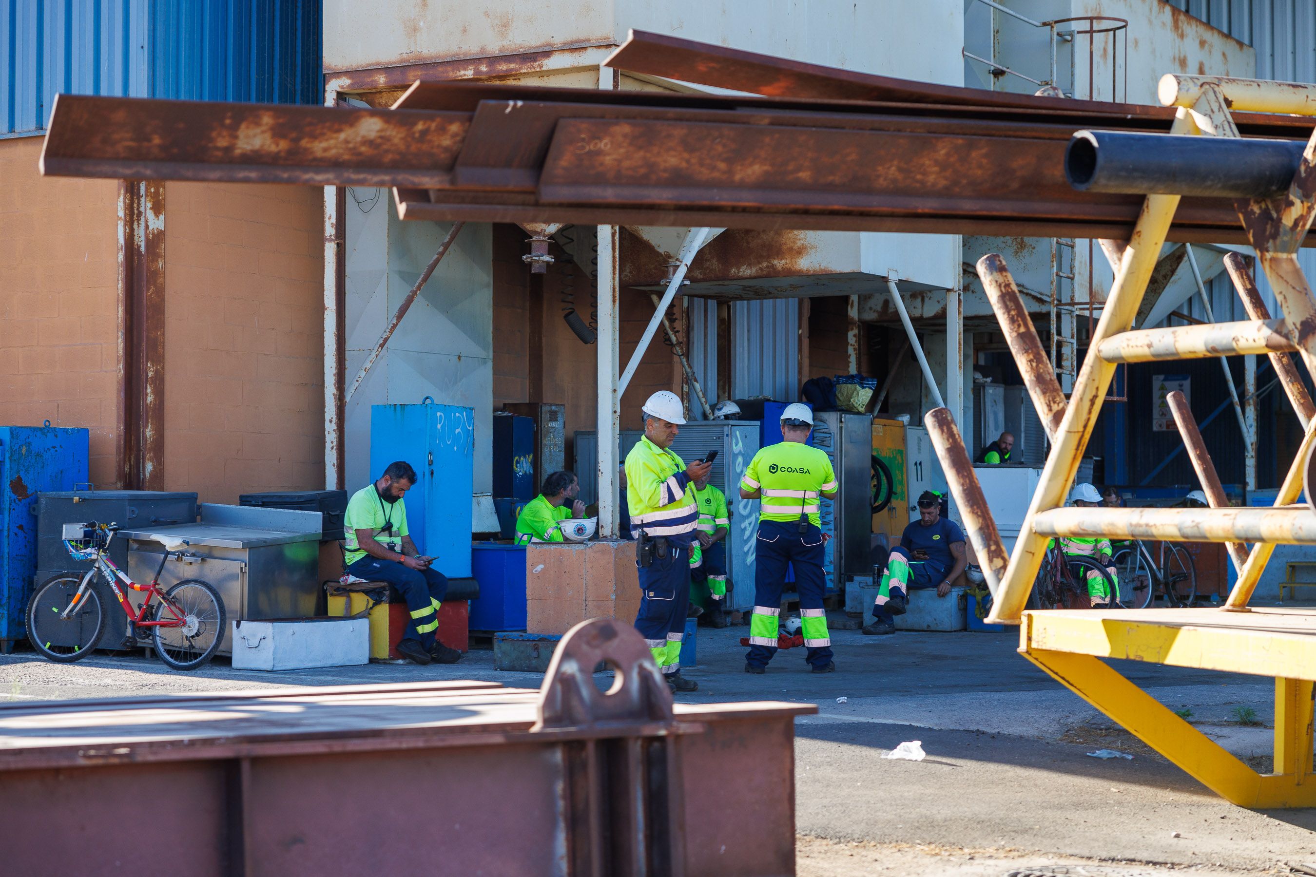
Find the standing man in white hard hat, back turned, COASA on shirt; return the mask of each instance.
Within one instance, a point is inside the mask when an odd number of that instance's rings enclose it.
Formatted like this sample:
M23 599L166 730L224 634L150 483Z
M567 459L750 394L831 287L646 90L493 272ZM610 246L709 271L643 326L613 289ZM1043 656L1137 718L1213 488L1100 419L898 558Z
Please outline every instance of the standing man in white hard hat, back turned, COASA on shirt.
M815 673L836 669L822 607L826 577L822 575L819 500L833 498L838 485L832 460L805 443L812 429L813 412L808 405L787 405L782 412L783 440L755 454L740 483L742 500L759 500L746 673L766 672L776 653L776 622L787 564L795 569L795 586L800 593L804 661Z

